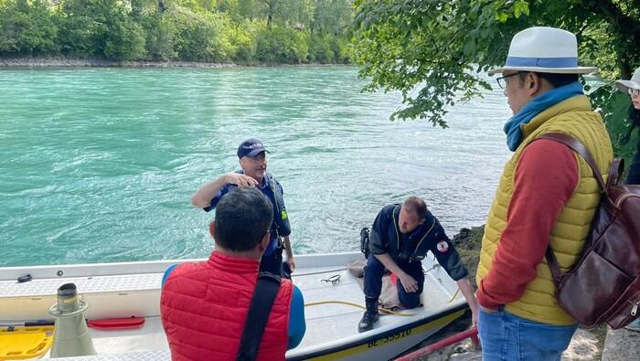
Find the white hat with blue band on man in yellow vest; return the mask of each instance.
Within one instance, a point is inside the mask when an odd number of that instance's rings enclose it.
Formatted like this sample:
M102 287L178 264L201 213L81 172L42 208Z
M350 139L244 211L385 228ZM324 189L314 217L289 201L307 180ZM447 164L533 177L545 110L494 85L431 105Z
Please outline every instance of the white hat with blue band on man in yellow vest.
M555 27L529 27L511 39L505 66L489 70L489 75L505 70L587 74L596 69L578 66L578 40L569 31Z

